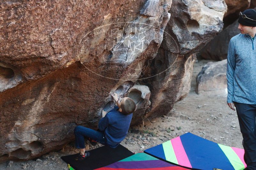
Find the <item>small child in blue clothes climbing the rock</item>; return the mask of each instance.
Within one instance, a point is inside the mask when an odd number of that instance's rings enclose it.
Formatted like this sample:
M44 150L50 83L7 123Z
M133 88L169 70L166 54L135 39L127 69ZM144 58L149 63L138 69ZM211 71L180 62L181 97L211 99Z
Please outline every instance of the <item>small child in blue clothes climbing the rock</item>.
M85 150L84 137L112 148L116 148L126 137L132 120L132 113L136 110L136 104L129 97L120 97L118 99L116 93L111 96L117 106L108 113L104 110L102 111L102 118L98 123L98 131L83 126L77 126L74 129L75 147L80 149L78 160L83 160L90 156L90 153Z

